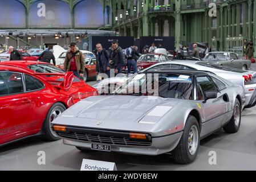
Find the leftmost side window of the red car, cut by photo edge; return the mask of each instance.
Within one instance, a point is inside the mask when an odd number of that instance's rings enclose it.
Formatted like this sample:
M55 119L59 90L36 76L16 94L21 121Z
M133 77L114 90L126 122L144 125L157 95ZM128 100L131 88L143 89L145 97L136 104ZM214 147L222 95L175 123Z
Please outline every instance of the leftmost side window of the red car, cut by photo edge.
M23 93L20 73L0 72L0 96Z

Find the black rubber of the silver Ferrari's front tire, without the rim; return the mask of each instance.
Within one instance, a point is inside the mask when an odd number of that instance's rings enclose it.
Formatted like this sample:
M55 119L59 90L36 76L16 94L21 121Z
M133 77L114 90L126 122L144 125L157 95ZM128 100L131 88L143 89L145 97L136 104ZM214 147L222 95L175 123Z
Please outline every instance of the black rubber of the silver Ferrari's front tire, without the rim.
M193 129L197 129L197 142L194 142L196 144L194 153L191 154L189 151L189 137L190 137L190 131ZM196 141L196 140L195 140ZM198 153L198 148L200 144L200 127L198 125L197 119L193 115L189 115L184 132L182 134L182 137L180 139L180 142L178 143L177 147L172 151L174 162L178 164L188 164L192 163Z

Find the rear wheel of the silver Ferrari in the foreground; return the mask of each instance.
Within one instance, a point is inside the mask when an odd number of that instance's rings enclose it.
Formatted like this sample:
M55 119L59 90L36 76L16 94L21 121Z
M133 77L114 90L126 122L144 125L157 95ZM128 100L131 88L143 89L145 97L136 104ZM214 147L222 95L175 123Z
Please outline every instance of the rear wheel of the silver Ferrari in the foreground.
M239 112L239 113L237 113ZM238 114L238 115L237 115ZM239 119L239 120L237 120ZM241 104L235 99L234 111L230 121L223 127L226 133L237 133L241 125Z

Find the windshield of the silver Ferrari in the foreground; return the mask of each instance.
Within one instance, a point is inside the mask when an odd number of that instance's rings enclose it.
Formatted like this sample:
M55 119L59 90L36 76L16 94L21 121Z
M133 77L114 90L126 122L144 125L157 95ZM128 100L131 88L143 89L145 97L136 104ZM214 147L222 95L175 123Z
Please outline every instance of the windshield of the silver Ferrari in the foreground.
M192 100L192 90L193 84L189 75L141 73L124 82L113 94Z

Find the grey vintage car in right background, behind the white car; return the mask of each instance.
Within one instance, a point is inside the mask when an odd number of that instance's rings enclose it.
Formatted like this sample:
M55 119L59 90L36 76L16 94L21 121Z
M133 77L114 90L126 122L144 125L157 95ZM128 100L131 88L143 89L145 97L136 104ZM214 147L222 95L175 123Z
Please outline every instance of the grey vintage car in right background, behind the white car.
M250 70L251 68L250 60L240 59L238 54L234 52L209 52L205 55L204 61L243 70Z

